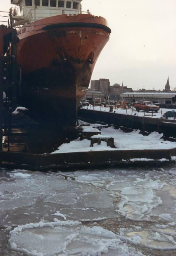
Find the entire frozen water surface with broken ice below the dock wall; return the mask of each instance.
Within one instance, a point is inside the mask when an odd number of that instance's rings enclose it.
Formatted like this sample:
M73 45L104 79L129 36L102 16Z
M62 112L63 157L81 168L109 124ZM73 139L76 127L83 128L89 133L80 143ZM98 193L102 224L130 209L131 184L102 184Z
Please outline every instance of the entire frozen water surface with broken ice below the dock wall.
M176 249L174 170L174 164L157 170L3 170L0 230L8 251L0 248L0 254L138 256L147 255L137 252L139 245ZM112 218L120 227L108 225Z

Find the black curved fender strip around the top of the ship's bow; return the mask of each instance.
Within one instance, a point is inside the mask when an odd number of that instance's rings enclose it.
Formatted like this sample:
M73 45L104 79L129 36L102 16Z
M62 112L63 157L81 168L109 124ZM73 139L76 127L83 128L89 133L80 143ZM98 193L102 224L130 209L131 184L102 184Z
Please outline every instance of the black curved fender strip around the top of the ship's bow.
M66 22L66 23L57 23L57 24L51 24L43 27L44 30L50 30L50 29L56 29L56 28L99 28L106 30L109 34L111 33L111 29L108 28L105 25L97 24L97 23L87 23L87 22Z

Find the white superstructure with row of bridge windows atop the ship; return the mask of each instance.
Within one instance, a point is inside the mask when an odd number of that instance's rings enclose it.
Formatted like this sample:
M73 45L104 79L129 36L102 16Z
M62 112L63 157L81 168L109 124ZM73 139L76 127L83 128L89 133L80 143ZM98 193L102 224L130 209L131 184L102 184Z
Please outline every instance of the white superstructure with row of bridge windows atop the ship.
M13 26L20 26L61 14L82 13L82 0L11 0ZM86 12L87 13L87 12Z

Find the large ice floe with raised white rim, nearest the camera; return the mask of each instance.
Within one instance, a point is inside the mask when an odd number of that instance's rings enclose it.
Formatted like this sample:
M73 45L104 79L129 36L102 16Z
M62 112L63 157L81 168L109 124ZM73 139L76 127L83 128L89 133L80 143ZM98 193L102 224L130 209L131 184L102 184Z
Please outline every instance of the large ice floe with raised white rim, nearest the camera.
M27 255L142 256L113 232L101 227L88 228L78 222L31 223L10 233L12 250Z

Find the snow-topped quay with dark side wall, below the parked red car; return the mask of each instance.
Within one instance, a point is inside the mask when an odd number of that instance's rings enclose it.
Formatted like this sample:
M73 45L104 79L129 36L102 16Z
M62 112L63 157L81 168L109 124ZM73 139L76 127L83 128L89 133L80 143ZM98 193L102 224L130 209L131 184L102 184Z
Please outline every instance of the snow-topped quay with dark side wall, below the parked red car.
M111 108L111 109L110 109ZM122 109L96 106L94 104L83 106L78 110L79 118L89 120L89 122L103 122L114 124L117 127L124 126L132 129L139 129L147 132L159 132L164 136L176 138L176 120L166 119L163 114L167 109L161 109L160 113L139 111L132 109ZM176 116L176 112L174 111Z

